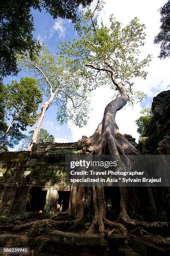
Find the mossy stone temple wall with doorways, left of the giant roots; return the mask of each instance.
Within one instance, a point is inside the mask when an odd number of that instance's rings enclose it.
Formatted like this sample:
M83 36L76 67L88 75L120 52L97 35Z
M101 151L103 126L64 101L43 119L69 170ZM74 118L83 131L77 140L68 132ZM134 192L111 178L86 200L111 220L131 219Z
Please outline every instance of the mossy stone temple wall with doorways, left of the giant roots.
M128 138L135 144L134 138ZM86 154L74 143L37 143L32 151L0 154L0 215L54 214L67 210L65 154ZM57 149L57 148L71 149ZM73 148L73 149L72 149ZM106 189L107 190L107 189ZM105 192L106 201L109 191Z

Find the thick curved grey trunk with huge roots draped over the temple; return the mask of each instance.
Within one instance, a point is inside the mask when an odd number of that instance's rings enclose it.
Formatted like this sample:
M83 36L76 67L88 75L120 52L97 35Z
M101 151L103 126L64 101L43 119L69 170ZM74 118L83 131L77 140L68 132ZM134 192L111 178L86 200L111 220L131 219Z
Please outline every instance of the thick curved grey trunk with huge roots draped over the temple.
M112 100L105 108L102 122L98 125L95 133L90 136L90 138L80 139L78 141L77 148L82 148L82 146L87 146L91 151L90 154L110 154L116 156L119 160L120 167L122 171L127 171L131 168L131 163L128 158L130 154L138 154L137 149L119 132L119 128L115 122L115 115L118 110L122 109L124 105L128 102L128 95L122 84L118 87L120 91L120 97ZM126 164L122 164L120 160L120 155L123 155L126 159ZM75 217L75 222L72 228L75 228L77 224L84 218L85 212L85 189L83 187L71 186L70 193L70 204L66 212L63 215L72 215ZM131 226L143 226L146 228L155 227L167 227L166 222L151 222L147 223L145 221L139 221L131 219L128 216L129 207L129 195L130 189L128 187L120 187L120 215L117 221L110 221L106 219L105 216L105 199L102 184L98 184L97 187L92 187L92 201L94 218L92 224L86 233L95 233L95 229L98 229L98 233L103 238L105 235L105 225L113 228L112 231L118 229L123 236L128 235L128 230L122 223ZM61 215L60 214L60 215ZM57 215L51 218L57 218ZM120 220L121 223L118 223ZM112 231L109 232L111 235Z

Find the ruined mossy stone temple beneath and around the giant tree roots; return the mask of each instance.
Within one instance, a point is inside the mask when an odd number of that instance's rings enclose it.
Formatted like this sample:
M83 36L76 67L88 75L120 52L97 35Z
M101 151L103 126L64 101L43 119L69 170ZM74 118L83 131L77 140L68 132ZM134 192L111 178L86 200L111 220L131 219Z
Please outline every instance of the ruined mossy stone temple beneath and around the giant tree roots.
M152 110L153 118L145 133L145 137L140 139L138 145L135 143L135 139L131 136L128 136L128 141L138 147L141 154L170 154L170 91L161 92L157 97L154 97ZM65 184L65 154L87 154L89 151L90 149L87 147L77 148L77 142L41 142L34 143L32 151L1 153L1 218L18 218L20 220L45 219L49 218L55 212L64 212L67 210L70 198L70 187ZM110 189L115 189L114 193ZM107 218L116 220L120 212L119 188L105 187L104 193ZM116 197L114 195L116 195ZM137 189L137 194L133 194L133 196L139 198L140 205L138 205L138 217L141 216L141 220L170 220L169 187L141 187ZM89 202L88 200L86 202L87 216L92 213L92 205ZM131 212L131 216L135 216L135 214L136 212ZM0 226L5 227L4 223L3 225L0 224ZM85 235L78 236L77 234L74 234L73 236L73 233L64 233L62 231L53 230L50 235L50 240L42 238L41 241L39 241L38 239L40 238L39 235L41 231L42 230L36 230L37 233L34 229L29 231L30 235L27 240L25 240L25 236L22 238L23 233L19 236L9 235L8 233L5 236L3 233L4 231L2 231L2 235L0 235L0 245L16 246L17 243L17 245L19 244L22 246L25 243L30 248L39 246L37 249L39 251L36 255L41 255L42 252L45 252L45 254L42 253L42 255L53 255L56 251L57 253L55 255L66 255L68 252L70 252L69 255L109 255L107 250L105 252L100 250L101 241L98 240L98 235L92 236L90 238L91 240L89 240L89 237L87 238ZM169 233L169 231L167 230L166 232ZM69 234L71 234L70 236L72 237L72 240L68 239ZM35 239L37 236L38 239ZM83 239L81 236L84 236ZM110 250L115 253L116 248L116 253L114 255L170 255L167 254L167 250L155 248L144 242L140 243L139 241L135 241L135 239L133 239L130 244L133 248L132 251L127 251L125 250L124 238L114 235L110 239ZM53 243L54 241L58 241L60 244L65 244L65 251L63 252L62 245L58 246L56 249L56 246ZM90 249L86 248L83 254L81 250L77 249L76 254L75 251L71 249L71 253L70 247L67 247L68 244L73 246L77 243L81 244L81 241L86 245L91 243L91 245L97 246L94 248L98 248L98 251L89 253L88 250Z

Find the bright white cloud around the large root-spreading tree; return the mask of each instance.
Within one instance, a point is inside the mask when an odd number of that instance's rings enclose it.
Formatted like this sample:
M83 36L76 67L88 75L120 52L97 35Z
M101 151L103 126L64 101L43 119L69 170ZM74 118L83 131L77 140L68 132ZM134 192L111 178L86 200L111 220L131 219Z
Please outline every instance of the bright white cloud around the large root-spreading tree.
M147 78L145 80L141 78L135 79L135 89L144 91L151 98L163 90L168 90L168 85L170 84L170 59L160 60L158 58L160 46L153 44L154 37L159 32L160 27L160 14L158 10L166 1L106 0L105 2L104 9L101 11L98 19L101 20L102 18L108 26L109 16L112 13L123 25L126 25L135 16L140 19L141 23L145 23L146 43L142 48L141 58L145 58L147 54L153 54L153 61L150 63L150 67L148 67ZM92 4L94 6L95 2ZM72 141L79 140L83 135L89 137L94 133L98 123L102 120L105 106L110 102L110 96L114 95L113 91L109 88L98 88L92 92L91 107L93 110L90 112L88 124L83 128L78 128L72 125L71 122L68 123L68 127L72 132ZM138 103L134 105L133 110L132 107L127 106L125 109L118 111L116 115L116 122L120 132L131 134L137 139L136 141L138 141L139 134L137 133L135 120L140 116L141 109L141 105Z

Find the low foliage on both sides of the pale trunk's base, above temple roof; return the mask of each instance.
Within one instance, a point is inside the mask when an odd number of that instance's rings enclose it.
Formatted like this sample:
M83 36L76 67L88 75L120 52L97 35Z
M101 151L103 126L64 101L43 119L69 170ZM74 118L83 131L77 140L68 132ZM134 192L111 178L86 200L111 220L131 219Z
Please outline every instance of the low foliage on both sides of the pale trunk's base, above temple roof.
M30 145L33 133L34 131L32 130L28 132L29 135L25 135L25 138L23 139L20 148L18 148L18 151L28 150L28 146ZM52 134L48 133L47 130L41 128L38 133L37 141L54 142L55 138Z

